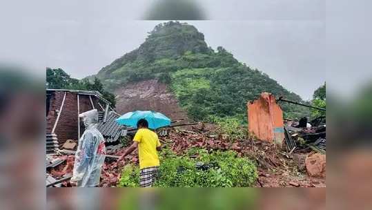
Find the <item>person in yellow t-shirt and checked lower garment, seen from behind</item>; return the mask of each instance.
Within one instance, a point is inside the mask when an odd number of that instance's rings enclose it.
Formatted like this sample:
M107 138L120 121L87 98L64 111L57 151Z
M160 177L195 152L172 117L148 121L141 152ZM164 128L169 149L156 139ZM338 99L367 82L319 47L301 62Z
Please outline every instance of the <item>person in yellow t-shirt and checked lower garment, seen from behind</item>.
M141 170L139 186L151 187L155 182L159 170L160 162L157 151L161 150L161 144L157 134L148 129L147 120L139 120L137 122L137 128L138 131L133 138L133 144L121 155L119 162L124 161L126 155L129 155L138 148L139 169ZM125 164L125 162L123 162L123 164Z

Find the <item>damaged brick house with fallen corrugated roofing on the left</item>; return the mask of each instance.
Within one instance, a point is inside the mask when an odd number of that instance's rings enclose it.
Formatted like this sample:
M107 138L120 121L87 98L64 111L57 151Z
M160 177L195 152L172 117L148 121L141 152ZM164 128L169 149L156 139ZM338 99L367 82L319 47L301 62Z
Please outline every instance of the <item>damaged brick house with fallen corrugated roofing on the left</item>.
M84 133L84 124L78 115L94 108L99 111L97 128L106 142L117 142L126 135L125 127L115 122L119 114L98 91L47 89L46 153L55 153L68 140L78 140Z

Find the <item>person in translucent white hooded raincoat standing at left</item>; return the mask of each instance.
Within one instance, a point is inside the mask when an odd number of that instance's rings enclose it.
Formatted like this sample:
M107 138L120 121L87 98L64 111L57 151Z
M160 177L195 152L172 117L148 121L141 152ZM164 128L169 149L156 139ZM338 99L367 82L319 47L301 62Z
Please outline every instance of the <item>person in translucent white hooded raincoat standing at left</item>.
M106 155L104 137L97 130L97 109L81 113L79 117L83 118L86 130L78 142L70 182L77 187L97 187Z

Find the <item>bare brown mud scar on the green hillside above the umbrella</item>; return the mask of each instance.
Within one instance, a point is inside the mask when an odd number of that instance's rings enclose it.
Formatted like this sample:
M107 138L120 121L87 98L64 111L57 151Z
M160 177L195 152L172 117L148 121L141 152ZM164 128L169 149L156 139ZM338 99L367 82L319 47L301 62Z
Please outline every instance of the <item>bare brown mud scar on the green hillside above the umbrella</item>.
M166 88L166 84L150 79L128 84L115 90L118 113L136 110L152 110L164 113L171 120L187 120L187 113L179 107L177 99Z

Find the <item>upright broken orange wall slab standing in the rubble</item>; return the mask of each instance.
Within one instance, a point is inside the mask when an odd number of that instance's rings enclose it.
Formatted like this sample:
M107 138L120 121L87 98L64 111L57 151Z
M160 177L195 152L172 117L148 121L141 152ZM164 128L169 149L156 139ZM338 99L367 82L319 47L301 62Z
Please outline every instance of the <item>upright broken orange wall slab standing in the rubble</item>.
M258 139L282 144L284 122L282 108L271 93L262 93L258 99L248 102L248 131Z

